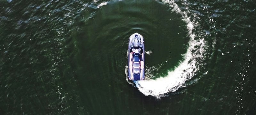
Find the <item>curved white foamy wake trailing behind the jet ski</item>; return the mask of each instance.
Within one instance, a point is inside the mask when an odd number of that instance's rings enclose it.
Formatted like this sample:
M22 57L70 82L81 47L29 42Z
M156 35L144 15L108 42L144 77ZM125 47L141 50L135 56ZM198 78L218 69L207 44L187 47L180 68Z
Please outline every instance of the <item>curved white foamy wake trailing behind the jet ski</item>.
M165 96L169 92L174 92L180 87L184 87L185 82L194 76L199 69L197 63L203 58L205 43L204 37L199 37L199 39L195 40L195 34L192 33L192 30L196 24L190 21L186 12L180 11L173 0L163 2L170 4L173 8L172 11L182 15L182 19L187 23L190 41L187 52L184 54L184 60L173 71L169 71L167 76L157 78L156 80L134 81L136 87L144 95L151 95L157 98Z

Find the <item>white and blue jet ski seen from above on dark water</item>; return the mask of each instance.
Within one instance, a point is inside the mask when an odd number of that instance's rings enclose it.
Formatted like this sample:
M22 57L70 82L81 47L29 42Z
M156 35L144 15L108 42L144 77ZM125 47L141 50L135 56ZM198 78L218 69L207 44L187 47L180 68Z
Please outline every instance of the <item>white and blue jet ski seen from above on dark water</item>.
M128 47L128 75L130 80L144 80L144 41L143 36L134 33L129 38Z

